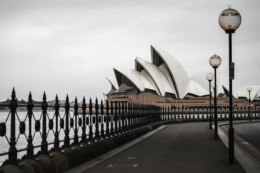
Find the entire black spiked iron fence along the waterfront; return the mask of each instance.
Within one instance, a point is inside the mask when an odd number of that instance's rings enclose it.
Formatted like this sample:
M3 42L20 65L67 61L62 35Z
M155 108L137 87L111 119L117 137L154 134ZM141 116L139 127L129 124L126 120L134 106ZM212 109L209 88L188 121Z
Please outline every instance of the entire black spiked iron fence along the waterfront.
M86 106L85 97L83 97L82 105L78 105L76 97L75 105L70 106L68 95L64 106L58 103L57 95L55 105L48 105L45 92L42 104L34 105L32 103L31 92L29 93L27 104L17 104L14 89L11 97L10 103L0 104L0 106L8 106L10 108L5 122L0 123L0 136L2 137L0 138L0 143L6 140L10 146L8 151L0 153L0 156L8 155L8 159L3 162L2 166L21 166L22 161L26 159L38 161L39 155L52 156L53 151L64 153L64 148L77 145L81 146L82 143L88 143L89 141L107 138L111 135L116 136L116 134L120 133L128 133L129 131L141 129L161 121L195 118L207 119L210 114L214 115L213 107L210 110L208 106L167 108L151 104L123 103L117 101L111 102L109 106L108 101L105 101L104 105L101 100L99 105L96 99L93 107L91 99L89 106ZM19 106L27 107L27 114L25 118L23 117L24 119L21 119L16 112ZM42 108L40 117L34 115L34 107ZM61 111L59 109L61 107L65 109L64 114L60 114ZM47 108L54 108L54 114L48 114ZM70 108L74 108L73 113L69 112ZM82 109L81 114L78 113L79 109ZM89 109L88 114L86 114L86 109ZM259 116L259 108L250 107L250 112L251 116ZM217 109L217 114L220 118L228 117L228 113L229 111L226 107ZM245 116L249 116L249 107L233 107L233 117ZM10 121L10 124L7 126L8 121ZM16 131L17 129L19 131ZM7 131L10 132L9 139ZM60 139L61 131L64 132L64 139ZM81 134L79 134L79 131ZM38 145L34 145L36 133L40 134L41 137L41 143ZM54 139L47 141L47 137L51 133ZM71 133L74 134L73 137L70 137ZM17 149L17 141L22 135L25 136L27 143L19 144L20 148ZM48 149L48 146L53 147ZM34 151L36 148L39 148L37 154ZM21 159L18 159L17 155L19 152L26 152L26 154Z

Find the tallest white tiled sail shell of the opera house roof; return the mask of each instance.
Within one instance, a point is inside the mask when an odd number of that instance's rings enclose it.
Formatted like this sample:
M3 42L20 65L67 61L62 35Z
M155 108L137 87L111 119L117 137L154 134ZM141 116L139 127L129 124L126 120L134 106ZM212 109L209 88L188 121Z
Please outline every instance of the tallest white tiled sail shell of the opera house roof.
M185 95L187 94L186 93L187 88L190 87L189 77L186 71L179 63L179 61L177 61L171 54L169 54L165 50L158 48L156 46L151 46L151 53L153 54L152 50L155 50L163 59L164 63L166 64L166 66L168 67L172 75L172 78L174 80L173 82L175 83L176 90L179 94L179 98L184 98Z

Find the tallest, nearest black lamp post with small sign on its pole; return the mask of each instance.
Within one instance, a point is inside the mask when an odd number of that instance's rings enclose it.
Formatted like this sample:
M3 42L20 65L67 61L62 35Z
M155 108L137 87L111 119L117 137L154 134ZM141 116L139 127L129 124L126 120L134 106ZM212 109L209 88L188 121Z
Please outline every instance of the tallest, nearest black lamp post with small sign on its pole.
M229 164L234 164L234 129L232 120L232 80L234 79L234 63L232 63L231 34L241 24L241 16L237 10L229 8L220 13L218 18L220 27L229 34Z

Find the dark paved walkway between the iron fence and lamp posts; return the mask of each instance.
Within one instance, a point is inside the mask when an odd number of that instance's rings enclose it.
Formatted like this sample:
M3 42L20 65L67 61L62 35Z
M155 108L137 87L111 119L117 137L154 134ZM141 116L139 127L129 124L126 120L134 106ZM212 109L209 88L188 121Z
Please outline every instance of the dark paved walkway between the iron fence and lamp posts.
M82 173L245 172L236 160L233 165L228 160L228 149L214 139L208 122L181 123L167 125Z

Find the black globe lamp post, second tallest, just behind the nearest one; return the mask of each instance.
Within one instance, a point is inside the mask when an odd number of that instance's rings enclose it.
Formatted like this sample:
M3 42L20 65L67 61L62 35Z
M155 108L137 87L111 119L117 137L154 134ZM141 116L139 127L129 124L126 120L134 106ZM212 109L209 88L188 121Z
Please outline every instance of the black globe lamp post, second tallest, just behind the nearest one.
M213 56L211 56L209 58L209 64L213 67L214 69L214 87L215 87L215 90L214 90L214 117L215 117L215 120L214 120L214 126L215 126L215 139L218 139L218 119L217 119L217 81L216 81L216 69L218 68L218 66L220 66L221 64L221 58L214 54Z

